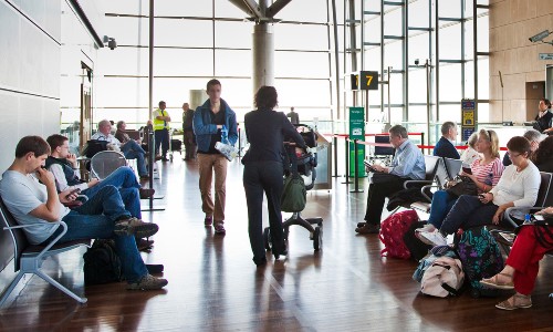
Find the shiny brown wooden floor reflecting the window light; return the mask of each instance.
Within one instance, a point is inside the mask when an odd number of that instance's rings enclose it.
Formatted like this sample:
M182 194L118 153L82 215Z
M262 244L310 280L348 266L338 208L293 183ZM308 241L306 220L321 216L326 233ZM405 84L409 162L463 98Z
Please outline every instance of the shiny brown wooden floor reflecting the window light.
M498 299L437 299L421 295L411 280L414 261L380 258L376 235L356 236L364 194L310 191L304 216L324 218L323 250L314 252L306 230L292 227L289 257L257 269L247 232L242 167L229 166L227 235L204 228L194 163L176 155L159 164L155 188L165 211L144 219L160 227L155 248L144 253L164 263L163 291L126 291L125 283L83 286L83 252L46 262L62 283L85 294L81 305L39 278L27 278L0 310L1 331L553 331L551 258L542 261L534 307L513 312ZM267 221L265 221L267 222ZM499 298L504 299L509 295Z

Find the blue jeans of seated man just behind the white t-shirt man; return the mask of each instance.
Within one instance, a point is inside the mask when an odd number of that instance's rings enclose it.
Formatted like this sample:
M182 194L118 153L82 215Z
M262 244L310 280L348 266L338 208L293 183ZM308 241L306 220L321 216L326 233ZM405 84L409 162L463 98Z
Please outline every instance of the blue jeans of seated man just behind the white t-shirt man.
M142 218L140 195L138 193L140 184L136 180L136 175L131 167L123 166L117 168L94 187L83 190L82 194L91 199L107 186L118 188L123 203L125 204L125 209L129 211L133 217Z

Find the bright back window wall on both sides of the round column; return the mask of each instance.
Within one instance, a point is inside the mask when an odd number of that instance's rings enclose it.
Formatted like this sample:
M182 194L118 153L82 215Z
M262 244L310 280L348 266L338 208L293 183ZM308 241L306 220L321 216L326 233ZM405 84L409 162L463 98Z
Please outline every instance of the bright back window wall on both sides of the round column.
M337 6L343 15L343 3ZM106 12L103 28L119 46L100 50L96 117L145 122L149 1L102 1L102 7ZM189 91L205 90L206 82L216 76L223 85L222 97L242 118L252 107L254 22L228 0L156 0L155 14L154 104L164 100L169 112L180 114ZM326 0L292 1L272 27L281 107L296 106L306 118L330 118L328 17ZM175 118L178 122L180 116Z

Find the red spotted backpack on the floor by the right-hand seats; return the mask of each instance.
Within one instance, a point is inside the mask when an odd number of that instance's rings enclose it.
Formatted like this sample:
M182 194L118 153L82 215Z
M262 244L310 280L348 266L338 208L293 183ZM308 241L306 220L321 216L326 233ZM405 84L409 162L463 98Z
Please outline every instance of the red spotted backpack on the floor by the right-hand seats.
M380 256L409 259L411 253L404 243L404 235L411 224L417 221L418 216L415 210L400 211L384 219L378 236L385 246L380 251Z

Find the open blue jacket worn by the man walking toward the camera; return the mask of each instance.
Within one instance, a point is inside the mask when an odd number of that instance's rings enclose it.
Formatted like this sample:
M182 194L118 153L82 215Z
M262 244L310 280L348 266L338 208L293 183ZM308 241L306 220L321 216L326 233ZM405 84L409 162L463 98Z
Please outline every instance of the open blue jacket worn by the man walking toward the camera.
M225 124L229 131L229 142L234 145L238 139L237 129L237 115L234 111L229 107L226 101L221 98L221 111L225 110ZM196 135L196 143L198 144L198 151L206 152L209 149L209 144L211 143L211 135L217 134L217 125L211 123L211 110L209 100L207 100L204 105L198 106L196 112L194 112L194 134Z

